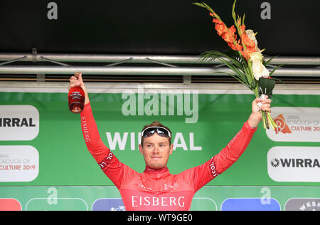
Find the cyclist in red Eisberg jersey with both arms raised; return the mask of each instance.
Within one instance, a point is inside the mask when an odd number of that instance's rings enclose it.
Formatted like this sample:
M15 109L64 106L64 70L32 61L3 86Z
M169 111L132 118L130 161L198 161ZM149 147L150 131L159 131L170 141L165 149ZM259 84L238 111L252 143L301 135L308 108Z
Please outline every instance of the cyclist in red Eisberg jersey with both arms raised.
M157 121L146 125L139 145L146 169L139 173L119 162L102 142L81 73L78 78L70 78L69 88L76 85L85 90L85 108L80 117L87 149L119 189L126 210L189 210L198 189L228 169L245 151L262 120L260 110L270 112L267 96L253 100L250 117L228 145L204 164L179 174L171 174L166 167L174 147L171 130Z

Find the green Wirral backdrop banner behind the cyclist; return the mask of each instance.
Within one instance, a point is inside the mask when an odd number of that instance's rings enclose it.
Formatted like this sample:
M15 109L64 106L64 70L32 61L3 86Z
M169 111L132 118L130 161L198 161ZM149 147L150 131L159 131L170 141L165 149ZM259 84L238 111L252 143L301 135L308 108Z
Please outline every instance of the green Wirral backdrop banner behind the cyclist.
M252 100L253 95L247 94L196 91L90 94L102 141L137 172L145 167L138 149L142 127L154 120L169 127L174 143L168 164L171 174L206 162L228 145L249 117ZM297 193L287 198L302 197L304 189L319 193L320 96L274 95L272 100L272 117L278 129L266 131L261 124L238 162L203 187L195 198L208 196L208 205L213 199L220 210L222 199L211 198L211 189L228 192L223 195L226 199L242 197L240 189L258 192L262 187L273 190L275 186L283 187L281 193L289 189ZM0 112L0 198L15 198L11 189L26 190L25 186L34 187L28 193L47 189L42 186L113 186L87 151L80 115L68 110L66 93L0 93ZM235 194L223 189L230 186ZM246 193L245 197L251 196ZM26 196L36 198L33 194ZM91 210L93 200L84 204L82 197L70 200L70 204ZM316 194L311 197L319 198ZM114 198L120 198L119 194ZM26 204L28 199L20 200ZM281 200L281 209L287 200ZM37 209L42 201L31 202L29 209ZM193 201L193 210L198 207L197 201Z

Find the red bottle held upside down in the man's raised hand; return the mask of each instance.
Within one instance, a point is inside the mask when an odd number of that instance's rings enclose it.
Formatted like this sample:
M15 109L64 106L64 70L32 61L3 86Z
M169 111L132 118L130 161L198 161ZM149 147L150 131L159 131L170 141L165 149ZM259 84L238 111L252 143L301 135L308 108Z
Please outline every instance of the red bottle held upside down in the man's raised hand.
M75 77L78 78L79 73L75 73ZM80 86L70 88L68 94L69 110L73 113L82 112L85 108L85 91Z

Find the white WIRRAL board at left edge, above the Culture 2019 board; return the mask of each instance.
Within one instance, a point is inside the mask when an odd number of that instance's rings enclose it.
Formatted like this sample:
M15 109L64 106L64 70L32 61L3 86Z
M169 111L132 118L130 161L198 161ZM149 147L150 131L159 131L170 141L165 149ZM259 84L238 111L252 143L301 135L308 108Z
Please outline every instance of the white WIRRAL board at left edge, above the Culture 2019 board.
M39 112L32 105L0 105L0 140L33 140L39 132Z

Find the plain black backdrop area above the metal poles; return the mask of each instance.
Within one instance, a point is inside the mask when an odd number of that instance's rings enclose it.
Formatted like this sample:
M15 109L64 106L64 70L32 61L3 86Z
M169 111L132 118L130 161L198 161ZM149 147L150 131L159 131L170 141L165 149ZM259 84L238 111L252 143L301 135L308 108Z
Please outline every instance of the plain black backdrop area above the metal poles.
M0 1L2 53L134 53L198 55L228 50L208 11L189 0L52 0L58 20L49 20L46 0ZM233 25L233 0L205 1ZM262 2L271 19L260 17ZM320 1L238 0L247 28L257 31L265 55L320 56Z

